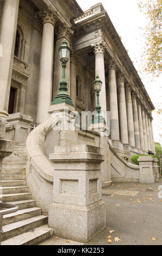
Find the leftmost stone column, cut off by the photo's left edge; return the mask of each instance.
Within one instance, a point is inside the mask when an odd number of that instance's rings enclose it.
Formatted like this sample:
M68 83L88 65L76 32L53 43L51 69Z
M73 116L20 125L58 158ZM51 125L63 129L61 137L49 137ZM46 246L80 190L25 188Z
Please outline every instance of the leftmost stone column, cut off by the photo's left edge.
M19 0L5 0L0 23L0 117L8 117Z

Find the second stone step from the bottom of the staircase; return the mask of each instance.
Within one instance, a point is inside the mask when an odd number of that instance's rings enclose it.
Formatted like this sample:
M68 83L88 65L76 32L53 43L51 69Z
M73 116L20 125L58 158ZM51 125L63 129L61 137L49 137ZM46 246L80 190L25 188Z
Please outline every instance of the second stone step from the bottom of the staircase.
M48 217L39 215L36 217L28 218L27 220L18 221L8 225L3 225L3 236L2 241L7 240L11 237L20 235L31 229L40 227L41 225L47 224Z

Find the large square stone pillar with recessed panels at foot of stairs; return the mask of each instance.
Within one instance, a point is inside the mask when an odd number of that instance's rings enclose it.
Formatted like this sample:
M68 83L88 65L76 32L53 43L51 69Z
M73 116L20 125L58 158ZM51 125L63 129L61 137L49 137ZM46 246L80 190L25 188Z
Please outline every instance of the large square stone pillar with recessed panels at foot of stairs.
M88 242L106 227L101 189L104 156L97 147L71 145L55 147L49 159L54 163L49 227L56 236Z

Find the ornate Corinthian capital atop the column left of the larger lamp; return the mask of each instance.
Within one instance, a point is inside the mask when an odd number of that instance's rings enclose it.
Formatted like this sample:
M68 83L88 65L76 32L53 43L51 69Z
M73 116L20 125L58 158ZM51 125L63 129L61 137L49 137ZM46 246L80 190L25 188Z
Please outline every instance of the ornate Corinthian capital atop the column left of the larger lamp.
M53 10L51 5L49 5L48 9L39 11L38 15L41 17L43 24L51 23L55 26L55 23L58 21L57 11Z

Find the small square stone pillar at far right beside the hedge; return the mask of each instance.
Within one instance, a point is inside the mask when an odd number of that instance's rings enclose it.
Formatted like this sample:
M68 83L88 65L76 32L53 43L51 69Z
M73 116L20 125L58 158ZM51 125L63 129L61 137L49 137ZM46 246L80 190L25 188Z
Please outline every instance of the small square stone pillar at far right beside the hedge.
M139 156L139 165L140 165L140 183L155 183L156 174L154 170L154 159L153 156Z

